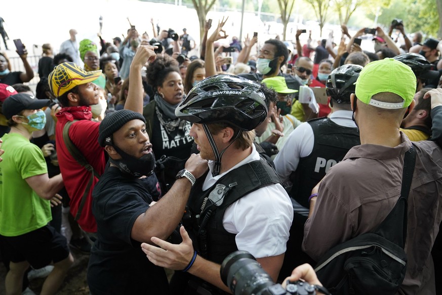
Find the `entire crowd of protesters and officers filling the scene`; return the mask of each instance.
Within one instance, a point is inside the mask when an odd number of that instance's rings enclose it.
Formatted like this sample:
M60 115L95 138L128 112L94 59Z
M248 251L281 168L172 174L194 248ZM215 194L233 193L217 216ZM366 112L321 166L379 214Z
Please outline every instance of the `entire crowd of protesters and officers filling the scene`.
M186 28L153 20L111 42L71 29L57 54L42 46L35 74L26 48L24 72L0 52L8 295L37 292L36 276L56 293L75 251L90 255L94 295L228 293L220 265L236 250L275 282L320 285L309 265L378 228L410 149L397 291L442 292L442 41L400 20L316 41L300 28L293 43L238 40L226 22L206 22L199 56Z

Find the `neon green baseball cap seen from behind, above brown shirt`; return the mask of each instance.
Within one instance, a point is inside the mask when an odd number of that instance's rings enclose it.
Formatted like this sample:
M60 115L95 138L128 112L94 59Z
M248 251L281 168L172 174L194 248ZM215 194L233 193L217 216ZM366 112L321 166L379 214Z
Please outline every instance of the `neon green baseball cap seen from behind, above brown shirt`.
M360 101L376 107L398 109L408 107L416 93L416 76L411 67L393 58L372 61L360 71L354 94ZM378 101L373 95L391 92L404 102Z

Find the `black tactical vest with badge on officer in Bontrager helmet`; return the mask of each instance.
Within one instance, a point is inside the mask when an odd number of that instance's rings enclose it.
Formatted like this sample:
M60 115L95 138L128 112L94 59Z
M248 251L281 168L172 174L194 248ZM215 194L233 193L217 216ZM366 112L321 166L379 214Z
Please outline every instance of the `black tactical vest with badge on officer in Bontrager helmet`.
M227 207L251 192L281 181L263 158L230 171L203 192L205 178L199 177L190 192L190 220L183 220L183 224L198 253L221 264L228 254L237 250L236 234L223 227Z

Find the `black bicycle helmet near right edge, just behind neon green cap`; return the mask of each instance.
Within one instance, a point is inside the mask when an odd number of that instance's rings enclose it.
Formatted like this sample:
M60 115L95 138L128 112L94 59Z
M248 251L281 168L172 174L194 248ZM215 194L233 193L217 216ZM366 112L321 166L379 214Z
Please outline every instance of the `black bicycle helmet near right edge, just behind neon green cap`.
M416 78L424 80L433 80L439 77L439 72L436 67L429 63L425 57L417 53L405 53L401 55L396 55L393 57L395 60L401 61L411 67Z

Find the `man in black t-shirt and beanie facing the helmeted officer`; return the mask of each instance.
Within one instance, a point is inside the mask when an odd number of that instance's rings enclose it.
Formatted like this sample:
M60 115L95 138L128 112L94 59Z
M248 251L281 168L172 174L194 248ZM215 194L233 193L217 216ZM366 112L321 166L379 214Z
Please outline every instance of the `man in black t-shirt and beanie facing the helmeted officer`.
M159 188L153 173L155 158L146 133L145 119L128 109L104 118L99 144L110 164L93 191L92 211L97 220L95 242L88 267L92 294L168 294L163 268L145 259L141 242L152 236L167 239L177 227L189 197L192 180L207 170L207 161L192 155L187 174L177 179L156 203L152 190ZM146 181L140 177L148 176ZM153 205L154 204L154 205Z

